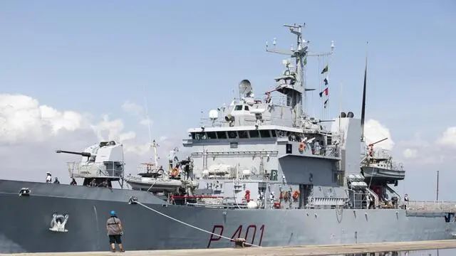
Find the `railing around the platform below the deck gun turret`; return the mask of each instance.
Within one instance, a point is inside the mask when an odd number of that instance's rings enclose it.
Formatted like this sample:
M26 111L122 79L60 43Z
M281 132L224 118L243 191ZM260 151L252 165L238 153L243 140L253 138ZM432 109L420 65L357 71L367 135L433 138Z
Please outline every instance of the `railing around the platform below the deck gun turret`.
M120 177L123 175L123 166L116 169L117 162L81 163L68 162L68 172L72 178L101 178ZM110 166L110 167L107 167Z

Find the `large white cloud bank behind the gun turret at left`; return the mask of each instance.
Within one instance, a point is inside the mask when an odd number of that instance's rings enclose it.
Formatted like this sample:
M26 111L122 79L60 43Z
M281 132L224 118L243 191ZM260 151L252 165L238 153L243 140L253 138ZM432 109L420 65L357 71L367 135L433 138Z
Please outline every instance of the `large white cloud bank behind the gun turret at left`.
M135 108L130 105L130 110ZM136 110L139 110L138 108ZM0 175L2 178L42 181L52 171L61 182L68 183L67 161L78 156L56 154L56 149L83 151L99 140L123 143L126 173L135 174L135 166L150 159L148 139L125 131L123 120L103 115L95 120L92 114L61 111L26 95L0 94ZM181 146L179 137L160 137L158 154L162 159L170 149Z

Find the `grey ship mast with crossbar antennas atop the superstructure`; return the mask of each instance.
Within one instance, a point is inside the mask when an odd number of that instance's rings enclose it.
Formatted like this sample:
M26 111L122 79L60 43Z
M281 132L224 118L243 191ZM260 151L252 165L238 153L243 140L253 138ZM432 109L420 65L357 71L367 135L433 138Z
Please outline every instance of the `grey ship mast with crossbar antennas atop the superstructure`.
M293 108L294 126L299 127L301 124L301 115L303 114L303 93L309 90L315 90L306 88L306 85L304 84L304 59L307 56L332 55L334 45L333 42L331 42L331 51L328 53L309 53L307 51L307 43L302 39L301 32L302 28L306 26L306 23L304 23L304 25L296 25L296 23L294 25L285 24L284 26L289 28L290 32L296 35L296 50L293 49L293 46L291 46L290 50L276 49L276 38L274 38L274 49L269 49L268 43L266 42L266 52L279 53L281 55L289 55L291 58L295 59L296 69L294 71L294 79L292 79L291 82L276 88L276 91L286 95L287 105ZM303 43L306 43L306 46L303 46ZM286 67L289 68L289 65L286 65ZM289 78L276 78L276 81L279 81L279 79L286 80Z

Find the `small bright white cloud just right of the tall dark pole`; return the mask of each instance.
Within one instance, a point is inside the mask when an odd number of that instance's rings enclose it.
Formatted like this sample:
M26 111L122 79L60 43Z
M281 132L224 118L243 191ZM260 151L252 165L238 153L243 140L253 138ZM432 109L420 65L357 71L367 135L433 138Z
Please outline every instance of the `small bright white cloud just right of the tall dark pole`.
M381 139L388 138L383 142L375 144L374 147L379 147L381 149L391 150L393 149L394 142L391 139L390 129L380 124L377 120L369 119L366 124L364 124L364 137L366 137L367 144L378 142Z

